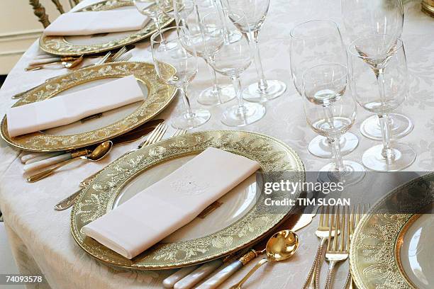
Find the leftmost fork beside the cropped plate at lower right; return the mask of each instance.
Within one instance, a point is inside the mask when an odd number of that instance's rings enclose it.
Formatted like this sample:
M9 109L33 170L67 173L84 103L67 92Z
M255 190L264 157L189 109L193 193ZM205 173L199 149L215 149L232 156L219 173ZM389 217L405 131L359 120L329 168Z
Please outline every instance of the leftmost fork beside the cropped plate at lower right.
M321 210L320 219L318 222L318 228L315 231L316 237L320 239L320 244L318 245L318 249L316 250L315 259L313 259L313 264L311 270L308 273L308 277L306 278L306 282L303 285L303 289L318 289L319 288L319 277L321 271L321 261L323 258L324 245L328 241L328 217L329 217L329 208L324 209L324 207L318 208ZM332 230L332 237L334 237L335 232Z

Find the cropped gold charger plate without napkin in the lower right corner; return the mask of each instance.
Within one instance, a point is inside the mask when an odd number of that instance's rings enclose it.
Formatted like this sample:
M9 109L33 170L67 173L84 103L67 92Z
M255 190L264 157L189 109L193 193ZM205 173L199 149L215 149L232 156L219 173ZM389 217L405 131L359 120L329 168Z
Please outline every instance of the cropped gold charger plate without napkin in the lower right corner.
M408 181L402 186L391 191L374 207L369 210L367 215L362 218L360 225L357 226L352 237L350 249L350 266L352 276L359 289L410 289L410 288L433 288L433 278L430 278L428 287L420 287L415 284L428 271L428 276L432 276L432 268L421 268L416 263L416 270L411 273L411 264L403 262L402 253L404 245L407 246L407 253L411 250L418 251L421 244L411 244L409 249L407 242L413 242L421 237L421 231L417 234L410 234L408 231L421 216L433 218L430 214L414 214L416 208L429 208L432 205L434 196L434 174ZM424 219L425 217L422 217ZM416 228L417 229L417 228ZM418 230L416 230L418 231ZM434 230L430 229L432 235ZM406 242L404 242L406 240ZM433 239L430 239L430 246ZM416 249L416 250L415 250ZM425 248L426 249L426 248ZM434 250L430 250L430 256ZM422 252L421 254L427 254ZM429 253L428 253L429 254ZM414 256L413 256L414 257ZM414 260L413 260L414 261ZM410 261L411 263L411 261ZM413 263L414 265L414 263ZM430 261L430 265L433 262ZM411 276L411 277L409 277ZM416 278L416 279L412 279ZM426 278L425 278L426 280Z

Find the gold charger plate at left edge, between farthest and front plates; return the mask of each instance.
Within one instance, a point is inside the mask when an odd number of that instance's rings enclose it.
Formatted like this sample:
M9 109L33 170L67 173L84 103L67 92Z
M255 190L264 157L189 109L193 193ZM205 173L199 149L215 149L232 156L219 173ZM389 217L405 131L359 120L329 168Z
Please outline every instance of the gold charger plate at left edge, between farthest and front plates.
M109 79L126 77L131 74L134 74L140 86L143 86L142 89L146 90L147 97L141 104L140 102L133 103L132 105L103 113L103 115L110 115L113 111L122 111L124 108L129 109L123 112L122 115L118 115L117 118L113 117L108 122L94 125L87 130L76 128L75 130L69 129L64 132L58 132L57 130L59 129L52 129L20 135L18 137L10 137L5 115L1 121L1 137L9 145L19 149L34 152L52 152L94 145L133 130L133 128L146 123L164 110L176 94L176 89L172 86L161 84L160 79L155 73L154 65L145 62L116 62L79 69L52 79L43 86L29 91L13 106L23 106L27 103L43 101L44 99L64 94L64 91L67 93L69 90L89 85L92 82L109 81ZM104 116L102 119L104 120ZM92 122L95 123L96 120L89 121L89 123ZM84 126L84 123L77 123L78 128ZM61 128L64 127L66 126Z

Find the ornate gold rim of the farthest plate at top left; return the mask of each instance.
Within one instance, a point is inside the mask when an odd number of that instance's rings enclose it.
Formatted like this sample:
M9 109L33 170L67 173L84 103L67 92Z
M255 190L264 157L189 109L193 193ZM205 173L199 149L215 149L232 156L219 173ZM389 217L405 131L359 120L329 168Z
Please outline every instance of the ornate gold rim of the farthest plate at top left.
M99 3L86 6L79 11L104 11L123 6L133 5L133 0L106 0ZM74 12L74 13L76 13ZM160 21L160 27L164 28L172 23L173 18L168 16L162 16ZM68 42L63 36L45 36L42 35L39 40L40 49L53 55L88 55L92 53L105 52L113 50L118 47L130 45L134 42L138 42L145 38L150 37L152 33L155 33L157 28L152 20L142 29L130 35L117 40L111 40L105 43L93 44L93 45L75 45Z

